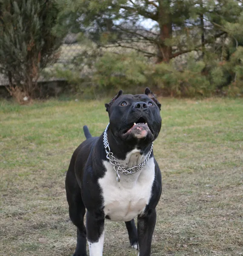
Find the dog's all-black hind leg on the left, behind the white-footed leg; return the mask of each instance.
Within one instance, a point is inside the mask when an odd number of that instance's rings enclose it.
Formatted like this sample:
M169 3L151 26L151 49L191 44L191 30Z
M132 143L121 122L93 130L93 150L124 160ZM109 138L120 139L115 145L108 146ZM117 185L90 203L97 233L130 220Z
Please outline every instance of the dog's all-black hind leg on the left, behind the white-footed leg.
M77 227L77 246L73 256L87 256L86 253L86 228L83 224L85 206L81 197L81 189L78 186L71 164L66 176L66 194L69 203L69 216L72 223Z

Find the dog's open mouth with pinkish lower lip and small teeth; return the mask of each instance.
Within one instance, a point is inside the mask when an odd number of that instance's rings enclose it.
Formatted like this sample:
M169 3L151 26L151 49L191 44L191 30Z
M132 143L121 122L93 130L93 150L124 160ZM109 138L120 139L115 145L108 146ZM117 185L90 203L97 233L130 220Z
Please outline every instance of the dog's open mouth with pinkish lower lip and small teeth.
M133 134L137 139L141 139L146 137L149 131L150 129L146 120L143 117L140 117L133 123L132 127L126 129L122 135L123 137L126 137L129 134Z

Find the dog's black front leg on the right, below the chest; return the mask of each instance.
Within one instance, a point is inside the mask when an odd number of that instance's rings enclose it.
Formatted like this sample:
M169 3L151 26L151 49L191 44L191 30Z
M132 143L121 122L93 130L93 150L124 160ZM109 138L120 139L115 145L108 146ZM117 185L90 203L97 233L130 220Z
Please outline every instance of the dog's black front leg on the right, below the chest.
M155 209L149 209L143 215L137 217L138 256L150 256L155 223Z

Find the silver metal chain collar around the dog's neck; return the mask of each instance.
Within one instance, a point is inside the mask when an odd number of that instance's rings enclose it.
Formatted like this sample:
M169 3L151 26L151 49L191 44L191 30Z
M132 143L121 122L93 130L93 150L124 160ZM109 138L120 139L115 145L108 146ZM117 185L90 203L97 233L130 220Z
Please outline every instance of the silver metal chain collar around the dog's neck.
M109 123L110 124L110 123ZM153 143L151 145L150 151L148 156L146 157L146 159L143 161L143 163L140 163L140 165L138 166L133 166L132 168L127 168L125 166L123 166L122 164L120 164L116 158L114 157L113 153L111 152L111 149L109 147L109 142L107 139L107 129L109 127L109 124L106 126L106 129L104 131L104 136L103 136L103 143L105 146L105 150L106 150L106 158L110 161L110 163L113 165L114 171L117 173L117 182L120 182L120 174L125 174L125 175L129 175L135 172L139 172L141 169L143 169L143 166L146 165L146 163L149 160L149 157L152 153L153 150Z

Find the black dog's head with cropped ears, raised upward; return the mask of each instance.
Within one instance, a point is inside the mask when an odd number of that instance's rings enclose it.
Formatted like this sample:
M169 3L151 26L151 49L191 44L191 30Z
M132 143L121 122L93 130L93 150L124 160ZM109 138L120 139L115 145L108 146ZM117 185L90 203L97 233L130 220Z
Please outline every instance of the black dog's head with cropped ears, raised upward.
M110 129L114 137L124 142L147 143L154 141L160 132L161 105L147 87L144 94L123 94L120 90L109 103Z

